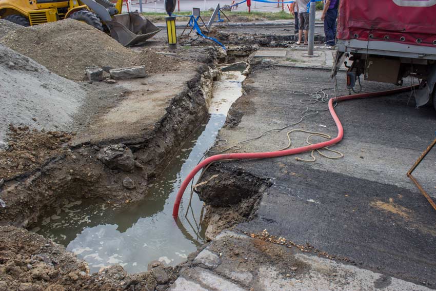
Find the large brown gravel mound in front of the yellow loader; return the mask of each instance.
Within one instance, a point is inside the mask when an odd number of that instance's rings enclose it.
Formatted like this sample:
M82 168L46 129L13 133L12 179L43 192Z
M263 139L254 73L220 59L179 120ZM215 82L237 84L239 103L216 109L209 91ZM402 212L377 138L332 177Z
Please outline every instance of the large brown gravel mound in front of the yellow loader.
M129 67L136 56L106 33L71 19L19 28L0 43L76 81L84 80L87 66Z

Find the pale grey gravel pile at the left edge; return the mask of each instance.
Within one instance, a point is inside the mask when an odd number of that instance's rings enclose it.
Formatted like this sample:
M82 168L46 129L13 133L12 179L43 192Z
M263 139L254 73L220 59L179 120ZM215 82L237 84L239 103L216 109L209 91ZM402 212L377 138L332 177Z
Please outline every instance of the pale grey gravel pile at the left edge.
M0 45L0 149L9 124L70 131L85 96L81 85Z

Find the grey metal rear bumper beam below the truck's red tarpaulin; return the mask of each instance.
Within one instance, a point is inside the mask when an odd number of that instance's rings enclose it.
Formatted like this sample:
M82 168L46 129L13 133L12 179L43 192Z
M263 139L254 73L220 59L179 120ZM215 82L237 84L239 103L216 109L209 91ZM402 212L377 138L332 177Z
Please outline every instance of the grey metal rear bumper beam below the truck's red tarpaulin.
M419 46L385 41L338 40L338 51L436 60L436 46Z

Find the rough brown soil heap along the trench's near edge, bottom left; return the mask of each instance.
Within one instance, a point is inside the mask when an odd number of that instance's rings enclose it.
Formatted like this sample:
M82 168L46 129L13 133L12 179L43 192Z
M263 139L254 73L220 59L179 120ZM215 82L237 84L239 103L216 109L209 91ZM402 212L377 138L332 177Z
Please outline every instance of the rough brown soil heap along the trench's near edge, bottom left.
M0 226L0 234L0 291L166 290L178 273L157 264L132 276L121 266L90 275L84 261L49 239L12 226Z

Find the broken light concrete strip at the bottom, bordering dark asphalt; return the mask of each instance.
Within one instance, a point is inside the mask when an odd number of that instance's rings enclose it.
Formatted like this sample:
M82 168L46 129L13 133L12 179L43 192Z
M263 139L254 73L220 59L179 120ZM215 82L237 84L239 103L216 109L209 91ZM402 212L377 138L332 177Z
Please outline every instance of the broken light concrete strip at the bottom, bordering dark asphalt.
M169 290L430 290L426 286L303 253L297 248L267 240L224 236L212 241L209 247L223 252L222 264L206 270L188 262L186 269L181 271L182 277Z

